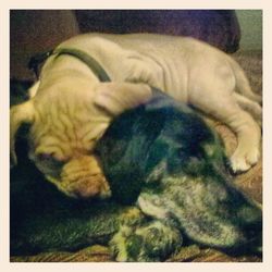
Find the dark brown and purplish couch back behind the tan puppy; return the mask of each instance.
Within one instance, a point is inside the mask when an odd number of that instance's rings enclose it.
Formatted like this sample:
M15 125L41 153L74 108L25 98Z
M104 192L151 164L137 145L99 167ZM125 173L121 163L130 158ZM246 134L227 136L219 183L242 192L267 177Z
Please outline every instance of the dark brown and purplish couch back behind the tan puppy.
M27 70L33 54L87 32L191 36L226 52L235 52L240 40L230 10L11 10L11 78L34 79Z

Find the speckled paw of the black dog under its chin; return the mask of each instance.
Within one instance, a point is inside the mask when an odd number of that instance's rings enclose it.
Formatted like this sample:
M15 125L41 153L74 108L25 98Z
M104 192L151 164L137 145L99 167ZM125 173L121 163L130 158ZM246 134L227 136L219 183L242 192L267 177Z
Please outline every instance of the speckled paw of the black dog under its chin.
M116 261L161 261L182 246L180 232L161 221L143 226L121 226L110 242Z

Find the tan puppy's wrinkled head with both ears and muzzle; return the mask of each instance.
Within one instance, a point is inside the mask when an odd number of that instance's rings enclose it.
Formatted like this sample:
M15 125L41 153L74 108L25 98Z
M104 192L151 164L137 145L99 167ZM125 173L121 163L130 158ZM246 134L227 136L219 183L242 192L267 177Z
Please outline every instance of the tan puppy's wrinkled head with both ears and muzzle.
M11 159L16 163L15 136L29 125L29 159L60 190L71 197L108 197L110 188L97 158L96 141L111 119L145 102L146 85L100 84L77 78L40 84L29 101L11 108Z

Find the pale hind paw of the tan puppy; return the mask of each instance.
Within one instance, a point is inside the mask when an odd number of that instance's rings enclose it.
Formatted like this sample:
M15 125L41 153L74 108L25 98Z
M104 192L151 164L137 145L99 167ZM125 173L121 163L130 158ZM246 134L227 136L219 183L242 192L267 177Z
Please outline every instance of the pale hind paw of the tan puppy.
M248 150L236 149L231 157L231 168L234 173L248 171L260 158L260 151L257 147Z

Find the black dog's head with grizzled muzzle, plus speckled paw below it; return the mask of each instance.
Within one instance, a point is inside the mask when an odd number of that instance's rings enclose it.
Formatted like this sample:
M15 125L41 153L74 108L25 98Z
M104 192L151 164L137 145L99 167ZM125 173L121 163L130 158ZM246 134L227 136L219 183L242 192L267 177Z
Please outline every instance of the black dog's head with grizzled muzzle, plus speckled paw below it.
M137 202L111 239L119 261L162 261L183 236L232 254L259 250L262 212L233 184L219 136L165 95L121 114L98 141L112 197Z

